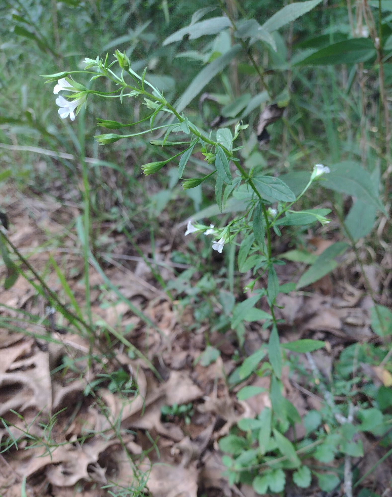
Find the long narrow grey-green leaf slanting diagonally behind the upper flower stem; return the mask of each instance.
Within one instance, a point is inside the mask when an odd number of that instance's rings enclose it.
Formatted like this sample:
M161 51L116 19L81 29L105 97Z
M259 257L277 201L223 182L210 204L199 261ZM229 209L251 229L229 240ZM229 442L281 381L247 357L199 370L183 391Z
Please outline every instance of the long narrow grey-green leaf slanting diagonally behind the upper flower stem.
M174 108L177 112L181 112L189 102L191 102L196 95L198 95L204 86L208 84L214 76L223 71L225 67L235 58L235 56L241 50L241 45L234 45L229 51L221 55L217 59L213 60L208 64L200 73L194 78L194 80L188 85L184 93L178 98L174 104Z

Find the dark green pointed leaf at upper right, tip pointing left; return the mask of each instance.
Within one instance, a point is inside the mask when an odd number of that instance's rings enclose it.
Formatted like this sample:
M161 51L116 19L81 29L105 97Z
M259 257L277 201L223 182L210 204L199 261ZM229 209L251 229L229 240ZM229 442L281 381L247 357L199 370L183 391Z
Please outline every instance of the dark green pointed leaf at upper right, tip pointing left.
M328 64L357 64L366 62L376 56L376 50L371 38L352 38L338 41L317 50L297 66L326 66Z

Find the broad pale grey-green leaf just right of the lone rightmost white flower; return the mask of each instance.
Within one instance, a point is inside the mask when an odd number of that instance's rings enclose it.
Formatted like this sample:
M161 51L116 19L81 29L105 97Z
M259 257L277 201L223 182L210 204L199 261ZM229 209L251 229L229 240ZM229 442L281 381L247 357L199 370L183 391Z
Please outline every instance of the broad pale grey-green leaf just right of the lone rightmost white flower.
M329 174L322 177L322 186L357 197L385 212L372 176L360 164L344 161L334 164L330 170Z

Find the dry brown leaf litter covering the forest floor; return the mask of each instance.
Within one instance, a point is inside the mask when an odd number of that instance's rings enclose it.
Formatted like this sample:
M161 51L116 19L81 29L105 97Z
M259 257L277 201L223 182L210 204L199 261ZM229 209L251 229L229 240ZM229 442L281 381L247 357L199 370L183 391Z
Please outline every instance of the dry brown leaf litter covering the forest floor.
M32 199L28 204L37 214L36 222L27 215L26 208L12 206L10 237L20 250L30 252L30 263L42 273L47 263L47 253L38 250L47 236L43 226L46 233L61 232L56 221L59 206ZM64 244L65 271L82 307L82 258L72 250L76 240L67 238ZM162 239L157 246L165 247L167 241ZM125 246L120 247L118 252L126 251ZM53 253L64 267L64 253ZM165 254L159 254L159 258L165 260ZM297 271L297 266L290 263L281 269L288 280L290 271ZM1 267L1 276L4 270ZM210 343L219 354L211 364L199 364L197 359L207 346L203 332L187 331L192 315L178 313L143 260L125 269L122 264L108 262L104 271L155 327L135 316L112 290L103 293L101 275L90 268L93 316L100 320L102 328L107 325L109 331L123 330L125 338L154 364L160 380L146 361L127 355L124 343L119 341L116 364L125 372L127 390L124 393L109 388L108 382L101 380L105 372L113 372L114 363L100 354L102 343L94 340L91 347L87 336L60 334L43 325L47 303L19 277L12 288L0 293L1 318L17 326L17 331L10 331L4 321L0 329L0 415L4 420L0 429L1 497L19 496L23 479L27 496L98 497L109 495L113 485L134 492L143 492L146 485L153 497L197 497L200 493L254 497L248 485L229 485L218 441L240 419L253 418L271 406L269 379L252 374L234 388L228 384L227 378L238 365L232 357L236 337L230 332L210 333ZM169 269L165 271L167 279L173 276ZM369 270L369 277L373 274ZM285 273L279 278L284 282ZM331 278L334 276L325 276L322 286L315 284L313 294L280 294L277 301L281 306L277 318L285 320L279 329L282 343L306 336L326 341L327 347L313 356L326 377L344 344L377 340L370 326L366 297L348 279L338 280L334 286ZM47 275L46 281L53 291L61 292L54 272ZM26 315L38 319L26 319ZM62 326L67 330L69 323L63 319ZM47 343L45 336L52 341ZM244 350L250 355L267 337L257 322L248 325ZM305 360L304 366L309 367ZM383 367L371 366L367 372L379 385L390 381ZM301 416L319 410L323 399L317 399L296 380L287 369L283 370L284 397ZM94 382L96 386L92 387ZM244 386L257 387L259 393L238 400L237 393ZM189 424L176 415L162 418L162 406L189 403L194 406ZM289 432L288 436L294 434ZM295 436L305 436L303 426L296 426ZM364 434L361 436L365 453L370 454L360 467L364 475L383 452L372 447ZM386 475L388 465L379 464L374 477L387 485Z

